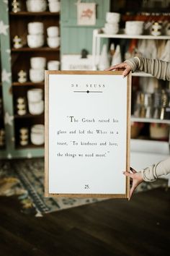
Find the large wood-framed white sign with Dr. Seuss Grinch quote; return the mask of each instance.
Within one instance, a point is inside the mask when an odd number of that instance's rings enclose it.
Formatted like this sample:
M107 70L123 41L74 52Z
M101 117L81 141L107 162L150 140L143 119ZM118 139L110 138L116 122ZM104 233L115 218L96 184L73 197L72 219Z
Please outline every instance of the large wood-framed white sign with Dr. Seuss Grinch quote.
M45 72L45 196L129 197L131 74Z

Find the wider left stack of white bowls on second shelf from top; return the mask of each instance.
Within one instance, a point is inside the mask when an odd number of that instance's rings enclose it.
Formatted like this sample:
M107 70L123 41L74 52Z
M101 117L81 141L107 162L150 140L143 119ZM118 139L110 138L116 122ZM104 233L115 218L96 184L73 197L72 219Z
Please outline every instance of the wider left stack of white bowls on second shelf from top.
M44 25L42 22L28 23L27 44L30 48L38 48L44 44Z

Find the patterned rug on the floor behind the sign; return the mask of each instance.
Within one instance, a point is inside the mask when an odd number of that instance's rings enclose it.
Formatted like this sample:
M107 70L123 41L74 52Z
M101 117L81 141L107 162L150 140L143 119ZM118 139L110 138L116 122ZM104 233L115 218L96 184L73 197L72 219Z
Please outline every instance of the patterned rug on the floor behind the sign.
M143 182L135 192L156 187L167 188L167 179ZM43 216L56 210L98 202L96 198L44 197L44 159L32 158L0 162L0 195L18 195L22 211L35 216Z

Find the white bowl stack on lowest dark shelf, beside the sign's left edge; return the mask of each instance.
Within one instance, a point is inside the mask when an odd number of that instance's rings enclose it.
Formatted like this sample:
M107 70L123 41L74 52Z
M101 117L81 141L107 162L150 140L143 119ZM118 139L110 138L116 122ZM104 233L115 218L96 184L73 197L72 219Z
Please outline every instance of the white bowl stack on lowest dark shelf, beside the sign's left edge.
M31 127L30 139L34 145L42 145L45 142L45 128L43 124L35 124Z

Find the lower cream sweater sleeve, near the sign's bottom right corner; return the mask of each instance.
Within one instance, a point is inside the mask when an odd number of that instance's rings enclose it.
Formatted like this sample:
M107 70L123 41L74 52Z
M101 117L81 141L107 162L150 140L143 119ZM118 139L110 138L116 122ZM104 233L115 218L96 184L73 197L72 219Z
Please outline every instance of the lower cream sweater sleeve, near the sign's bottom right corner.
M140 171L145 182L154 182L162 175L170 174L170 157Z

